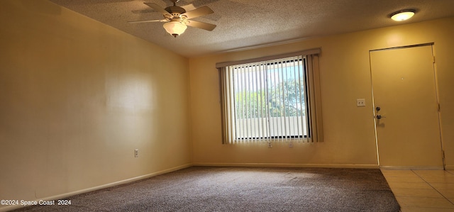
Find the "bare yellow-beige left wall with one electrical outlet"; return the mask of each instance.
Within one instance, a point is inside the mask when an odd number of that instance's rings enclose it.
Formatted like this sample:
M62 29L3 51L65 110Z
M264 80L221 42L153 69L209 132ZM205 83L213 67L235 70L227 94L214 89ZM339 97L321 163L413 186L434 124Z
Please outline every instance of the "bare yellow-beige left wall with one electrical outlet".
M191 164L187 58L49 1L0 1L0 26L0 199Z

